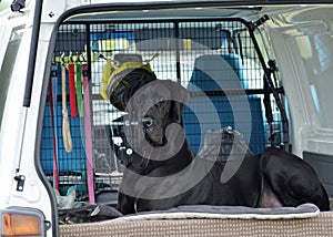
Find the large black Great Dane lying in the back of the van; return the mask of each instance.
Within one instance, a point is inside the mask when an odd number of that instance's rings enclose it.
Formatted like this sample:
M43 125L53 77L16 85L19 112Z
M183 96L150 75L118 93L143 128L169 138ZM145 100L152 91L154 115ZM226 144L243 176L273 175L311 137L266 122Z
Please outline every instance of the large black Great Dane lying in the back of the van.
M329 210L314 169L300 157L269 147L260 155L214 162L193 154L182 130L189 93L169 80L138 84L122 95L130 159L119 193L119 210L132 214L180 205L297 206Z

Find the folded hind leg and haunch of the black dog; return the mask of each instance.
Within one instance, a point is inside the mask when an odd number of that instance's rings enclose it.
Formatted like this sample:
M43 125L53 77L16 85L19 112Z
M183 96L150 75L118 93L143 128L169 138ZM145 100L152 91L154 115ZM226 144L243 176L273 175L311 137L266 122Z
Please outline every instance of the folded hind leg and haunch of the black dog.
M261 156L261 171L282 206L315 204L330 209L329 195L315 171L302 158L283 150L269 147Z

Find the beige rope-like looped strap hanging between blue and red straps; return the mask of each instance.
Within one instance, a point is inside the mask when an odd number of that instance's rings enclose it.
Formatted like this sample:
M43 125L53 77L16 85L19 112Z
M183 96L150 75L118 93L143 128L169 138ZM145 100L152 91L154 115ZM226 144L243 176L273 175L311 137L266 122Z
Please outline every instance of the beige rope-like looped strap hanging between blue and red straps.
M72 137L71 130L69 124L68 111L67 111L67 102L65 102L65 66L61 65L61 87L62 87L62 136L63 136L63 145L67 152L72 151Z

